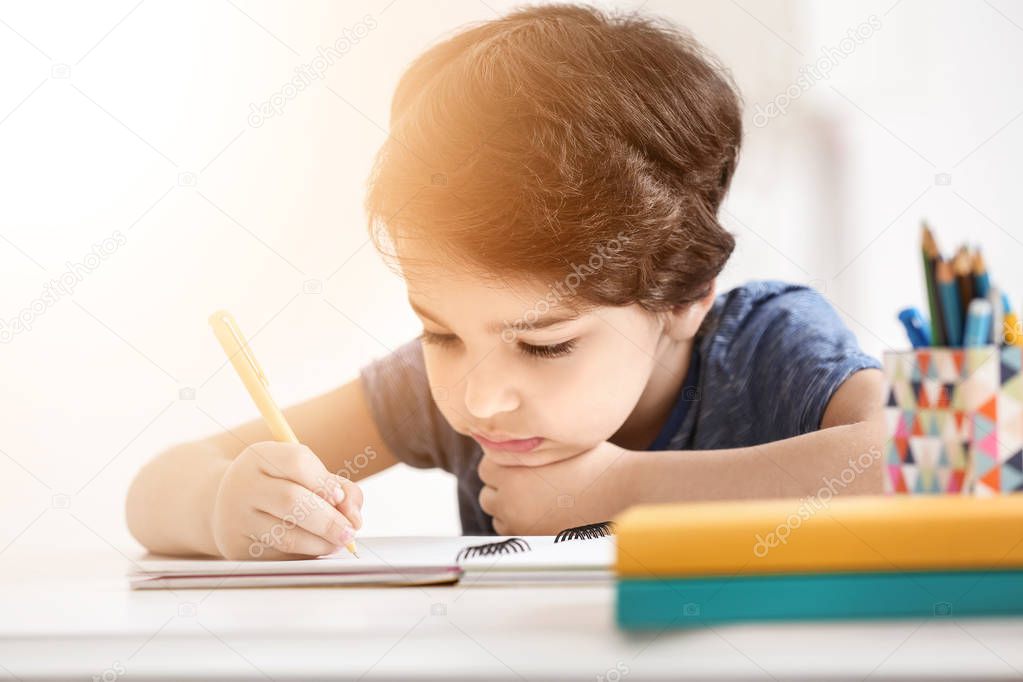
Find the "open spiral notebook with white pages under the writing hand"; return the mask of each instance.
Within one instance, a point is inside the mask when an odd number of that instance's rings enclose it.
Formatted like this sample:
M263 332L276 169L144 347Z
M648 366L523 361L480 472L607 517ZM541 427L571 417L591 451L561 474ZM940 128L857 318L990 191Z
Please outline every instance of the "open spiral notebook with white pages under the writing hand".
M359 538L347 551L313 559L232 561L146 558L129 574L133 589L429 585L607 581L615 560L610 521L557 536Z

